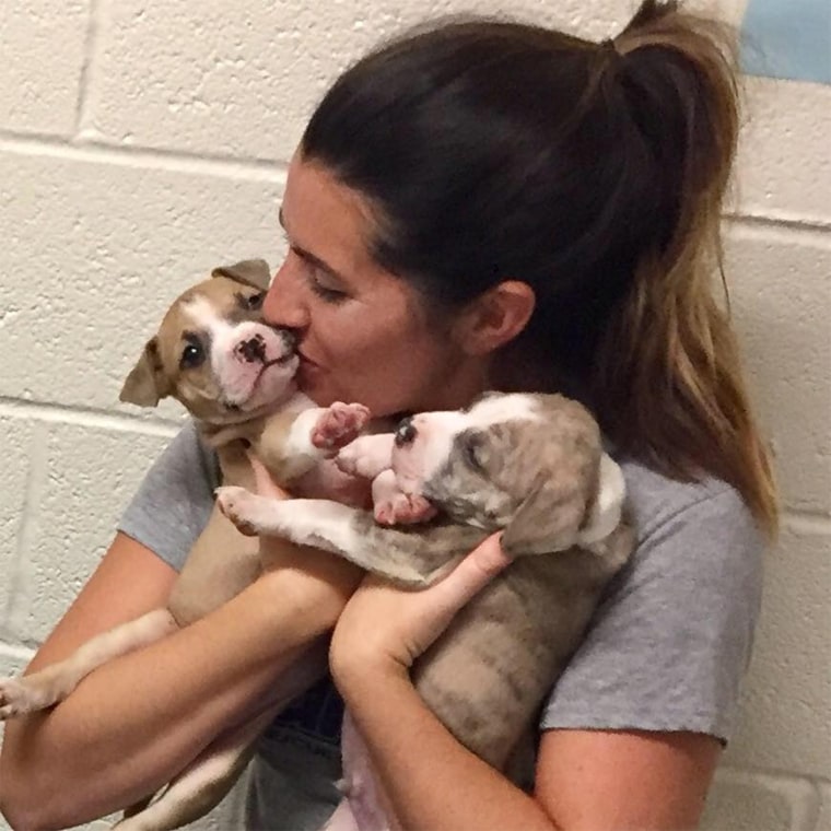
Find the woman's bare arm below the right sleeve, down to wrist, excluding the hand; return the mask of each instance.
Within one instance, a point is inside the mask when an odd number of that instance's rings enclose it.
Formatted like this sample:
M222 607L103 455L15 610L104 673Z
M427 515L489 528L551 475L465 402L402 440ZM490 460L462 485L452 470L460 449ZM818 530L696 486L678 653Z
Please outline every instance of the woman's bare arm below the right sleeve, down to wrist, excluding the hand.
M407 678L366 671L364 680L348 704L402 828L697 827L719 753L710 736L549 730L531 797L459 745Z

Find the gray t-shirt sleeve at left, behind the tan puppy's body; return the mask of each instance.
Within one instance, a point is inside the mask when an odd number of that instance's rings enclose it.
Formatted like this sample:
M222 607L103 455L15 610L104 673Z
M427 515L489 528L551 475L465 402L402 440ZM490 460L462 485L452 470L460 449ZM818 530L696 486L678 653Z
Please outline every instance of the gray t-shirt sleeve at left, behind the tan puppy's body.
M215 456L188 421L148 471L118 530L179 571L208 523L218 483Z

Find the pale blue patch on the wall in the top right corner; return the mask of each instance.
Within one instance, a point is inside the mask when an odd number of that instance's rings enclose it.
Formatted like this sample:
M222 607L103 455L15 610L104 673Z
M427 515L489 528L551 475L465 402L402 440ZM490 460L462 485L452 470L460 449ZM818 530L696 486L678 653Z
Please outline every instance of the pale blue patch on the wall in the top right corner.
M831 84L831 0L748 0L741 69Z

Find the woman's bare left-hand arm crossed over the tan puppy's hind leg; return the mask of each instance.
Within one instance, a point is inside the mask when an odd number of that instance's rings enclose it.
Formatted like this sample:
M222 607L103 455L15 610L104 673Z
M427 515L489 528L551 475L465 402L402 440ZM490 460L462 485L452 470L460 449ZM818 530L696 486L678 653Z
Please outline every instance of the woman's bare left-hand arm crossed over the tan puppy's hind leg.
M27 831L78 824L167 782L337 620L359 572L321 552L279 547L284 566L224 607L84 679L45 714L12 721L0 808ZM118 535L31 669L163 605L175 571Z

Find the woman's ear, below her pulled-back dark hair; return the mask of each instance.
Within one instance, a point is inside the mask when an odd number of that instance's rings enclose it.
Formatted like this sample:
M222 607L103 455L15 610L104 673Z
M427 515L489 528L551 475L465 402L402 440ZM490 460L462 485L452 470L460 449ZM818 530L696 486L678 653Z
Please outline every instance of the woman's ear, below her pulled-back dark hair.
M454 327L458 342L471 355L494 352L525 329L535 303L528 283L504 280L464 309Z

